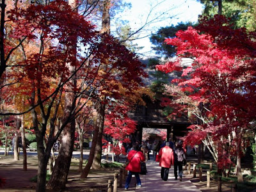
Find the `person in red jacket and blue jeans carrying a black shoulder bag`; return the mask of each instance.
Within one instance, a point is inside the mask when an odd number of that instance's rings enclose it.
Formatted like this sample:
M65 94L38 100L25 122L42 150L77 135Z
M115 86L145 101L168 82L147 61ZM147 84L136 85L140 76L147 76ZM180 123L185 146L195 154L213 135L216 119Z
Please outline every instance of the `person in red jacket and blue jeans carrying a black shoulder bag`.
M138 143L135 143L132 147L132 150L128 153L127 159L129 164L127 164L125 170L129 171L126 182L125 182L125 191L128 190L129 184L132 179L132 175L135 175L137 181L137 187L141 187L141 180L140 180L140 162L145 161L145 156L139 150Z

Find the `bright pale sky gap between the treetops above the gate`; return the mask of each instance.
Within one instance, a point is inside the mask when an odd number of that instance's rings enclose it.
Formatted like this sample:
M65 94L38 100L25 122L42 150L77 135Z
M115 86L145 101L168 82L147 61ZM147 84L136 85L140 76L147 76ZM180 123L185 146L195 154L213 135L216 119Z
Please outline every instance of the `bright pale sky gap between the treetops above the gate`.
M136 31L150 21L161 15L162 19L147 24L145 29L141 30L140 36L147 36L155 33L161 27L175 25L179 22L196 22L198 15L202 13L202 4L196 0L125 0L132 4L131 10L122 13L124 19L129 20L131 28ZM151 11L151 12L150 12ZM148 17L149 15L149 17ZM147 56L154 56L151 51L151 44L148 37L136 40L139 46L145 48L139 53Z

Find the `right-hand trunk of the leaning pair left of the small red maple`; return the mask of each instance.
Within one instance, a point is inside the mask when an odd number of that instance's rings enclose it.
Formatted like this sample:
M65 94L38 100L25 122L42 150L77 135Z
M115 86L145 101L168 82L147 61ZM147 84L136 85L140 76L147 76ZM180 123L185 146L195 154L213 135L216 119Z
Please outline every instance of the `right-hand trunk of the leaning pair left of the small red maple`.
M104 129L105 109L106 109L106 104L102 104L99 111L100 125L99 125L99 134L97 138L97 143L95 147L95 154L93 157L93 164L92 164L93 169L99 169L101 167L102 134Z

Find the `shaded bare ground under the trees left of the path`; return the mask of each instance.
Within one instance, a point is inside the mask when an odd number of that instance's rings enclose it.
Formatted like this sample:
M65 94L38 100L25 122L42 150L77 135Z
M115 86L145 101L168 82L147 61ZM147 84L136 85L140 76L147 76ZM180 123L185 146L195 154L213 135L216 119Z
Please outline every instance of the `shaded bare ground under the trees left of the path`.
M119 171L119 168L100 168L100 170L92 170L86 179L80 179L80 173L77 171L78 163L78 159L72 159L67 188L61 191L107 191L108 180L113 180L114 173ZM30 179L36 174L36 156L28 157L26 172L22 170L22 158L14 161L13 156L0 156L0 177L6 179L6 184L0 188L0 191L35 191L36 183L31 182ZM50 190L47 191L50 192Z

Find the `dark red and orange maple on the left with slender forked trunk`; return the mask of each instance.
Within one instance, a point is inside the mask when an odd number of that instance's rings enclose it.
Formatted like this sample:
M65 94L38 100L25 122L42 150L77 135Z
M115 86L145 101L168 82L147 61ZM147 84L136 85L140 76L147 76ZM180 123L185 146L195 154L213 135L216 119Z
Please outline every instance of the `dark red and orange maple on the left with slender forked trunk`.
M26 119L28 128L35 131L41 158L37 190L44 191L52 145L74 119L78 126L91 129L97 126L93 109L106 105L106 133L125 141L125 136L134 132L136 124L127 118L130 104L125 106L124 100L134 99L134 93L141 90L144 65L136 54L113 36L99 33L65 1L10 3L3 13L5 34L0 44L6 66L1 68L1 114L31 112ZM69 105L65 105L67 100ZM86 116L90 120L85 120Z

